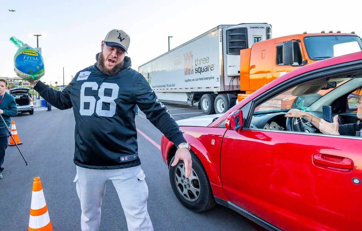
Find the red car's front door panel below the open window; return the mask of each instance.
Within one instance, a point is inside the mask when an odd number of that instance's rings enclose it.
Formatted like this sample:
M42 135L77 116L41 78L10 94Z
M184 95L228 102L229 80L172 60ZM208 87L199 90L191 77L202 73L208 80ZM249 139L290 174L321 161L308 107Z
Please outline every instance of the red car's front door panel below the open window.
M362 140L228 130L221 150L230 202L282 230L362 227Z

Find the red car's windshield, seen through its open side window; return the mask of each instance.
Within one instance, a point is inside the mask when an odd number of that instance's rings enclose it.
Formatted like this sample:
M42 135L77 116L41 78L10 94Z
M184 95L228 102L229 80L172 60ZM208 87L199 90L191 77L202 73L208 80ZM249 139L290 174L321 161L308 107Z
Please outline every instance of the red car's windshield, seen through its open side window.
M301 96L294 96L292 92L295 88L291 88L288 91L285 91L278 96L271 98L270 100L262 103L261 105L257 106L254 114L263 114L263 113L272 113L272 112L287 112L292 108L302 109L309 107L315 101L317 101L320 97L324 96L328 92L332 92L334 89L338 88L342 84L346 83L347 81L351 80L350 78L343 78L343 79L336 79L331 80L329 83L335 83L335 87L319 90L316 93L309 94L309 95L301 95ZM309 85L308 85L309 86ZM310 86L313 86L311 84ZM307 89L307 87L306 87Z

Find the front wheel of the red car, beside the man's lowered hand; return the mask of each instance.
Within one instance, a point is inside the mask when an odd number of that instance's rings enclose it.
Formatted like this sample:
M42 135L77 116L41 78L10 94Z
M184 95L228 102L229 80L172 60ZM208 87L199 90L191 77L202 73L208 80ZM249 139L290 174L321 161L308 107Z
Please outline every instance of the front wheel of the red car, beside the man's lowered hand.
M184 161L178 161L174 167L169 166L169 177L173 193L186 208L194 212L212 209L216 202L212 194L209 179L201 161L191 152L192 169L189 179L185 176ZM175 157L170 163L173 163Z

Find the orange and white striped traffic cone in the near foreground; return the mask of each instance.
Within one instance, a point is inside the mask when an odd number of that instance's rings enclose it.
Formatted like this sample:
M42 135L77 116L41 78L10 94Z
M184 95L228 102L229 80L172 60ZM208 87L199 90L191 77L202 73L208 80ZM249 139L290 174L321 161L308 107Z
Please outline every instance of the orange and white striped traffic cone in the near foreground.
M40 177L35 177L31 194L28 231L52 231Z

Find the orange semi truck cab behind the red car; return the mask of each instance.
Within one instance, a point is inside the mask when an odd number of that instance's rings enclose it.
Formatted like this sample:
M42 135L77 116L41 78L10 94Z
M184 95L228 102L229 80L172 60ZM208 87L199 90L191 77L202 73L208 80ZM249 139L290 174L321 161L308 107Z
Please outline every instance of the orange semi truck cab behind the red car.
M288 35L254 43L240 50L240 91L237 102L298 67L362 50L361 38L352 33ZM245 92L245 93L244 93Z

